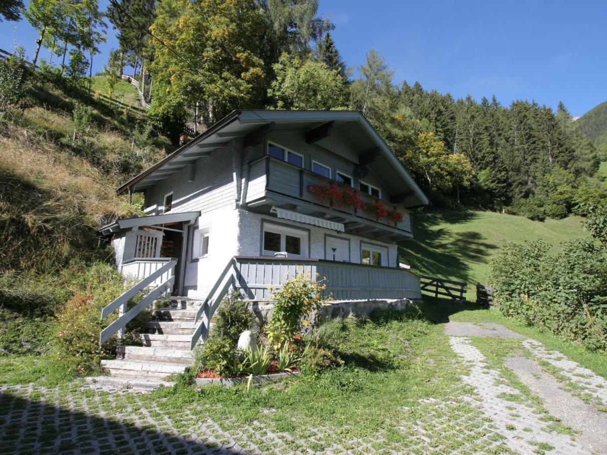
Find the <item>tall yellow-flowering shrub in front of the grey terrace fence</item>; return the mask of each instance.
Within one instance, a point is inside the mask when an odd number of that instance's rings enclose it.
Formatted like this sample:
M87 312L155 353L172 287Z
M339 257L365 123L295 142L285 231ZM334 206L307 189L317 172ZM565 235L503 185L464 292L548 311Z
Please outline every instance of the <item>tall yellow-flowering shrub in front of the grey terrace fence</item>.
M311 278L309 273L299 273L272 295L274 308L266 325L271 345L282 348L285 342L293 341L302 325L310 325L307 317L325 303L322 291L326 288L327 285ZM270 286L270 289L273 288Z

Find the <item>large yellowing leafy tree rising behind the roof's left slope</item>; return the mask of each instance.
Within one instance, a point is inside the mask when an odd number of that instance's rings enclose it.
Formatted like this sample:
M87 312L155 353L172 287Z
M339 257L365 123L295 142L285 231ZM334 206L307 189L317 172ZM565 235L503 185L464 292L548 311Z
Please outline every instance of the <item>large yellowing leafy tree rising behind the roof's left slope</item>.
M259 5L168 0L157 13L150 27L152 93L161 93L154 96L154 115L174 117L201 106L210 124L237 107L263 106L270 67L259 55L269 24Z

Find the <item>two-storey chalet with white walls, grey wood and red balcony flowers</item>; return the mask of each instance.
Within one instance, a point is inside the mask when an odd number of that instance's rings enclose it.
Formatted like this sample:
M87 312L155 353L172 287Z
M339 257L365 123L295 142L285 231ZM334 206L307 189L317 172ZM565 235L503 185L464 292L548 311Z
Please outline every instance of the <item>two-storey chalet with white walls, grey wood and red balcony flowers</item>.
M191 346L229 288L269 300L298 266L334 300L421 297L397 245L428 199L360 112L237 110L118 192L145 196L145 217L101 229L142 280L125 294L169 286L201 302ZM104 314L126 314L125 298Z

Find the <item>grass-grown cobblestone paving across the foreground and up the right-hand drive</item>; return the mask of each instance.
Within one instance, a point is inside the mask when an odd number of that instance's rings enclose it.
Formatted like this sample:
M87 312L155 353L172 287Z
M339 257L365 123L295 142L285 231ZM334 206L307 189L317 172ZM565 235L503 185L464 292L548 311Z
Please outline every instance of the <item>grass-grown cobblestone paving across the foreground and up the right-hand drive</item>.
M473 346L474 327L453 326L447 334L467 368L449 400L422 399L366 439L350 439L339 428L288 433L271 420L242 425L209 417L209 405L168 411L170 396L92 389L83 383L46 389L0 388L0 453L592 453L583 434L554 425L554 417L520 393L503 371ZM503 328L479 327L480 336L508 336ZM472 330L472 332L470 332ZM495 331L496 334L487 333ZM582 391L597 409L607 406L607 381L535 340L522 346L561 373L563 388ZM597 411L603 418L604 412ZM272 413L266 409L264 414ZM607 427L606 427L607 428ZM607 437L607 436L606 436Z

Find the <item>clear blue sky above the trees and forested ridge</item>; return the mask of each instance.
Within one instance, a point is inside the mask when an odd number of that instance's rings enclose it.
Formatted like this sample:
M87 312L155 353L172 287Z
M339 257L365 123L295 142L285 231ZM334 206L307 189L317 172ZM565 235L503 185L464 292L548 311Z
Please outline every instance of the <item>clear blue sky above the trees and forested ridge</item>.
M320 0L319 12L336 24L348 66L375 48L395 70L395 83L419 81L456 98L495 94L504 105L535 99L556 107L562 100L572 115L607 100L604 0ZM0 24L2 49L12 50L16 39L32 56L35 38L25 21ZM116 45L110 29L95 71Z

